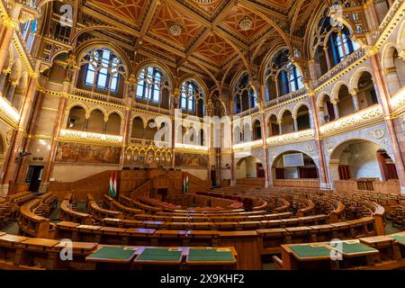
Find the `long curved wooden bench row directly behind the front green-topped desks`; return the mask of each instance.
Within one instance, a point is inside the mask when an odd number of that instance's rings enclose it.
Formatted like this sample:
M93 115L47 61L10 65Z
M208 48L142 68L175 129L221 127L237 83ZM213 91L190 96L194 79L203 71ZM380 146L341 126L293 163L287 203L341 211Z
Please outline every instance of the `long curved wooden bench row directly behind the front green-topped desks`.
M262 255L280 252L280 245L374 236L374 219L304 227L247 231L113 228L59 222L56 238L107 245L235 247L241 269L261 269Z

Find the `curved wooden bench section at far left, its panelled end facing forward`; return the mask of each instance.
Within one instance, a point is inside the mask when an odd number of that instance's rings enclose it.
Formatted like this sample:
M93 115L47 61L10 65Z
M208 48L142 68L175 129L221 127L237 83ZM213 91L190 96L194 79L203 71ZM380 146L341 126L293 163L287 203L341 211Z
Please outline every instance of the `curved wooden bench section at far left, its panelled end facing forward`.
M47 193L46 196L42 196L41 198L23 204L20 209L20 217L18 220L19 231L21 234L39 238L54 237L56 230L55 224L51 223L48 218L35 214L35 210L40 208L41 204L52 196L52 193Z

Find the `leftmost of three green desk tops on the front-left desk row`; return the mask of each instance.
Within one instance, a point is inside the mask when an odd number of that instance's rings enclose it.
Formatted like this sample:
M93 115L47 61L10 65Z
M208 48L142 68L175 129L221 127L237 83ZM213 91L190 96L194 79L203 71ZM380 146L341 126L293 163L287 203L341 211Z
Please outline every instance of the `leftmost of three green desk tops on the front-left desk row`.
M85 261L127 264L136 256L137 250L138 247L100 246L93 254L85 257Z

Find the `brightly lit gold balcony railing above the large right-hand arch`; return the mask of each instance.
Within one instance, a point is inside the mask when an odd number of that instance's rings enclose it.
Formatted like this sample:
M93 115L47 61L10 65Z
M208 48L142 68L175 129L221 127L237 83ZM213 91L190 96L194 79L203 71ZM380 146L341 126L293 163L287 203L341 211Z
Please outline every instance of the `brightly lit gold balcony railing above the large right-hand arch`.
M339 130L358 127L362 123L373 121L383 116L383 108L379 104L362 109L354 114L350 114L335 121L320 126L320 134L330 134Z

